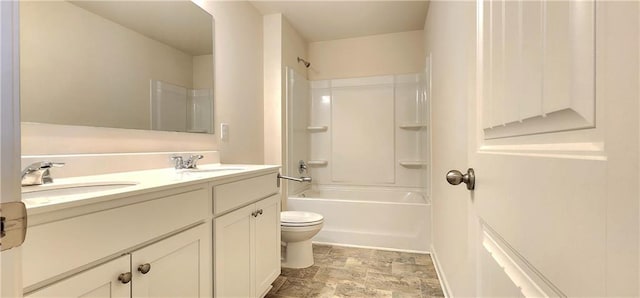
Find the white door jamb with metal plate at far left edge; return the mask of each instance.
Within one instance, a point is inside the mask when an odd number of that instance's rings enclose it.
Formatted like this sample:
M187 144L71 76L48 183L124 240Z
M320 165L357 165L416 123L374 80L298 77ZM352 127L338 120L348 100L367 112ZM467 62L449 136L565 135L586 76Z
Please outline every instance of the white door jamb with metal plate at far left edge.
M0 1L0 203L21 201L18 63L18 1ZM0 253L0 269L0 297L21 297L19 247Z

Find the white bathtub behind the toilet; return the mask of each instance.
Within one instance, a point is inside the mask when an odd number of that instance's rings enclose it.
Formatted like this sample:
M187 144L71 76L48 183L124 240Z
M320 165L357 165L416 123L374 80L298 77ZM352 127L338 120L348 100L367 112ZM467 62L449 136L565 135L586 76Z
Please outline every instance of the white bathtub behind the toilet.
M428 252L431 205L418 192L307 190L289 196L287 209L324 216L316 243Z

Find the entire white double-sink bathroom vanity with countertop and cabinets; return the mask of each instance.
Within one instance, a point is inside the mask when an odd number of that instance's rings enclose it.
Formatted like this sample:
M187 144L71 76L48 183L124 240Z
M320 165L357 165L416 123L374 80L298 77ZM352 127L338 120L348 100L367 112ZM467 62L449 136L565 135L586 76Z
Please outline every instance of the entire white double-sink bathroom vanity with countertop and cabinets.
M124 186L23 199L25 296L263 295L280 274L278 168L206 165L56 180Z

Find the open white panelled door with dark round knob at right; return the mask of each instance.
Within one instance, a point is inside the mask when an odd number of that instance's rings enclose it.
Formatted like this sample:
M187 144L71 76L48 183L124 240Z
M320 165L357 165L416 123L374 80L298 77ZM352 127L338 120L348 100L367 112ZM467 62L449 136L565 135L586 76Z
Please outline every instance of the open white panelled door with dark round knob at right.
M638 296L638 2L476 16L478 296Z

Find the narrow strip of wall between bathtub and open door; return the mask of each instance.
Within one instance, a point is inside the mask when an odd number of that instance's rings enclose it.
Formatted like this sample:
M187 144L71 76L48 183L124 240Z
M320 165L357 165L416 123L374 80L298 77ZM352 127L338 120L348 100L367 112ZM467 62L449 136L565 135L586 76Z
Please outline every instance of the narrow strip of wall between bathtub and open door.
M476 296L477 218L469 191L445 181L447 171L469 167L467 114L474 84L468 75L475 67L474 16L473 2L432 1L425 24L431 102L431 253L450 297Z

